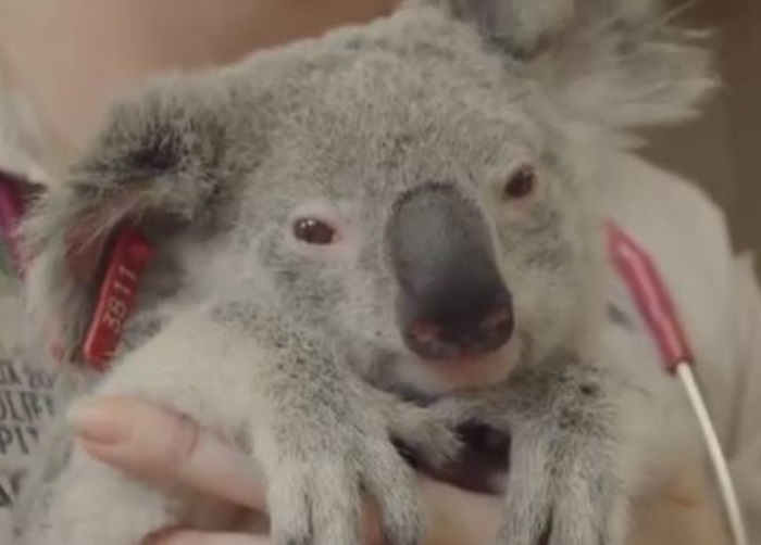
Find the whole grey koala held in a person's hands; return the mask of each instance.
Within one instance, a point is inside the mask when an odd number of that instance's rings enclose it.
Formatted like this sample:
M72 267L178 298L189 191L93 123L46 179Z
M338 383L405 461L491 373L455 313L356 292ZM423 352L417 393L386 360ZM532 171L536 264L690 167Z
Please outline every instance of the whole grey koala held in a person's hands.
M34 339L80 396L159 402L249 453L276 544L360 543L361 494L388 543L422 543L404 453L444 468L473 421L509 438L496 543L623 544L648 456L682 444L603 334L595 193L634 129L711 88L688 38L645 0L417 0L159 79L26 220ZM82 379L91 278L128 227L154 255L108 372ZM20 544L232 523L53 438Z

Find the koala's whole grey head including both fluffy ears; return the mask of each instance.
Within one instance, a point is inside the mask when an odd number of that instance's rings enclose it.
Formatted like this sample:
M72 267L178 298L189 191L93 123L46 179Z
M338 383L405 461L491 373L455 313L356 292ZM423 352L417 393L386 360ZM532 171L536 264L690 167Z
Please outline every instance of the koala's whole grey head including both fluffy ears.
M118 105L27 224L36 321L55 317L75 357L95 264L137 224L158 256L135 324L180 300L270 305L425 389L581 338L600 291L597 155L687 113L703 58L633 1L559 1L546 20L433 3Z

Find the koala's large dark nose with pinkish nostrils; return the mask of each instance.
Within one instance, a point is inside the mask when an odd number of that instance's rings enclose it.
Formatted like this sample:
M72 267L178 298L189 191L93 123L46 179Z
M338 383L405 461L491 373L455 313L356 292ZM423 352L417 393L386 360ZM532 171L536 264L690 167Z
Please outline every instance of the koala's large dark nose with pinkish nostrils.
M407 345L426 359L472 359L508 342L511 296L481 211L449 185L406 193L389 224Z

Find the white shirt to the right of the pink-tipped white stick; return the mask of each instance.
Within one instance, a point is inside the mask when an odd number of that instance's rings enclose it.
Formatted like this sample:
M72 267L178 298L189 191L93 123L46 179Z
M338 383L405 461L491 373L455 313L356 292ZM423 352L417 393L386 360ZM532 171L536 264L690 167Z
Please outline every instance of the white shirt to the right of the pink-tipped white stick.
M670 290L750 542L759 543L761 291L751 256L734 254L722 212L695 186L634 156L616 157L615 165L620 177L607 188L607 208L647 249Z

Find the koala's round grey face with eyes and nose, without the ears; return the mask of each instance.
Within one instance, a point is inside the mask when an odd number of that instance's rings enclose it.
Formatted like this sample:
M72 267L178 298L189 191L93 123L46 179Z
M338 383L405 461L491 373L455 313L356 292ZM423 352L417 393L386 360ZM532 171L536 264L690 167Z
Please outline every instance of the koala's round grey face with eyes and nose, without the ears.
M592 243L562 119L475 35L414 23L336 40L275 99L235 258L375 371L439 389L567 334Z

